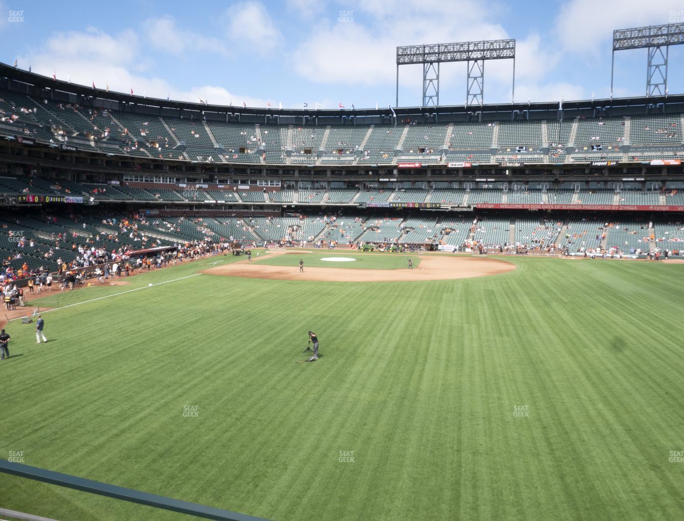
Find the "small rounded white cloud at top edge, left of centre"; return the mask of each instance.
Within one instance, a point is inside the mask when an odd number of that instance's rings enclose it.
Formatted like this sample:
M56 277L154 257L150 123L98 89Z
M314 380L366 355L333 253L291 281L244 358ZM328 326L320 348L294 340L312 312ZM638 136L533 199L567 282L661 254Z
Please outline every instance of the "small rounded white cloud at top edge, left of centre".
M246 1L224 11L226 35L235 45L258 54L273 49L280 41L280 32L263 3Z

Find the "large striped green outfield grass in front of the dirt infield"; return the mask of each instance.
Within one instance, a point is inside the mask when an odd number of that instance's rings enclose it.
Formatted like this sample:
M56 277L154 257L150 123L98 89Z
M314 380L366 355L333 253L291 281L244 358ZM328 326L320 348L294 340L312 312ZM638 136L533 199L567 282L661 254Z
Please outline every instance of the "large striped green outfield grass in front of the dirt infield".
M507 260L422 283L200 261L51 296L129 291L45 314L47 344L8 326L0 454L273 520L681 518L684 265ZM295 364L308 329L322 357ZM186 519L4 474L0 505Z

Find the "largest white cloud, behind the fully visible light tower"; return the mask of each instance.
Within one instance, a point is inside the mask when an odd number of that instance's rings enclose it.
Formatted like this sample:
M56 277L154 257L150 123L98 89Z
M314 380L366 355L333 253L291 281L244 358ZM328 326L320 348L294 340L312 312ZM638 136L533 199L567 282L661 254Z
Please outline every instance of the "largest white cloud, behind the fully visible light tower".
M324 20L300 42L292 54L292 66L297 73L312 83L378 86L392 92L397 45L511 37L498 23L505 12L493 3L371 0L354 9L354 23L338 23L337 18ZM458 23L435 24L436 10L442 18ZM568 95L581 92L578 86L559 84L555 79L545 81L549 71L560 62L560 51L542 41L539 34L518 36L516 40L518 101L523 94L527 99L527 92L532 99L537 94L553 99L563 88ZM487 62L485 101L510 100L512 66L511 60ZM440 67L441 103L464 102L465 71L463 63ZM421 66L402 66L399 81L402 104L416 105L421 98ZM523 86L526 92L521 91Z

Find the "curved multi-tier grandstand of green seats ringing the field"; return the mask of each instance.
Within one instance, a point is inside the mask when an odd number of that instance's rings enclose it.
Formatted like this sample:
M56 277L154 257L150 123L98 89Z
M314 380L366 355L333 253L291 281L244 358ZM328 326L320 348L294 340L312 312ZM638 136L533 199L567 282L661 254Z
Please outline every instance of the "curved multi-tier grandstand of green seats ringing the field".
M157 244L172 241L161 226L183 240L679 254L682 95L274 110L137 97L2 65L0 110L5 223L38 207L93 226L101 214L135 211L164 217L146 230ZM330 215L350 218L339 229ZM486 229L473 229L473 218ZM627 223L614 240L608 221Z

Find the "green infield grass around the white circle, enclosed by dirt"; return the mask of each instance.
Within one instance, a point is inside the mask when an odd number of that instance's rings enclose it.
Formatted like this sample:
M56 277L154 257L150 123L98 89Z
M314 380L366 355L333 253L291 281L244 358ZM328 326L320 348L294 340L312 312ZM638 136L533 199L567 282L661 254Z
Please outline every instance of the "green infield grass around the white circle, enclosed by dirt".
M347 257L356 259L347 262L324 261L326 257ZM311 253L293 252L285 255L266 255L256 258L252 255L252 262L270 264L272 266L293 266L299 269L299 261L304 261L306 268L363 268L367 270L399 270L408 268L408 259L412 259L413 267L417 268L421 262L419 255L408 253L358 253L356 250L313 250Z

